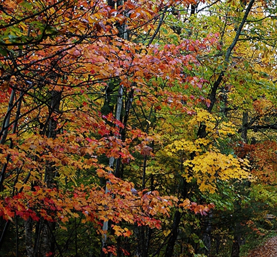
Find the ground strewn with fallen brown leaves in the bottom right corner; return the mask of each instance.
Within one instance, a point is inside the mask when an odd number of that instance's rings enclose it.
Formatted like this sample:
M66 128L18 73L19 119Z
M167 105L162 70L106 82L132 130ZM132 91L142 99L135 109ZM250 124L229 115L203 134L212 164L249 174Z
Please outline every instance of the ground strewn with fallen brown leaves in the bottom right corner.
M251 250L247 257L277 257L277 236L270 238L262 245Z

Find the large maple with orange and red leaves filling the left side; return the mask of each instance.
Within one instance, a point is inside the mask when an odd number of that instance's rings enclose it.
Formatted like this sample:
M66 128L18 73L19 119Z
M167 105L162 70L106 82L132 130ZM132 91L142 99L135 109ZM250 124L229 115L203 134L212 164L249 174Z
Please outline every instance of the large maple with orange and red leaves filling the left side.
M137 155L144 160L153 155L149 145L160 139L149 133L149 119L153 110L161 110L161 102L169 110L193 113L194 98L175 88L201 87L201 78L189 76L186 69L198 65L196 52L213 42L153 44L164 14L189 4L1 3L3 254L13 252L4 242L14 236L16 256L77 256L82 242L78 233L84 228L98 238L84 252L121 255L125 250L113 240L132 234L127 224L160 228L156 215L169 215L176 199L147 191L145 174L142 186L124 181L120 167ZM203 212L185 199L178 204ZM109 232L104 222L109 222ZM101 246L99 238L107 233L110 240Z

